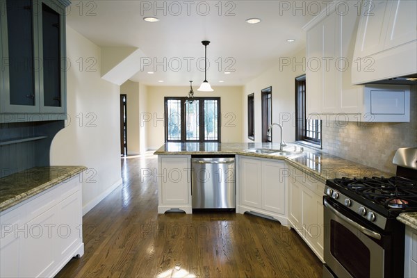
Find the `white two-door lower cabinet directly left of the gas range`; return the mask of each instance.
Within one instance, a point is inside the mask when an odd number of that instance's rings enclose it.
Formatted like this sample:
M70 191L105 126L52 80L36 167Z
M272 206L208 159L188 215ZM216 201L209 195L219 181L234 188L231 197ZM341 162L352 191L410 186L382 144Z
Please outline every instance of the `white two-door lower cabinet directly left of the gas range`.
M323 261L325 227L322 196L325 184L292 166L288 167L288 173L288 220L291 227Z

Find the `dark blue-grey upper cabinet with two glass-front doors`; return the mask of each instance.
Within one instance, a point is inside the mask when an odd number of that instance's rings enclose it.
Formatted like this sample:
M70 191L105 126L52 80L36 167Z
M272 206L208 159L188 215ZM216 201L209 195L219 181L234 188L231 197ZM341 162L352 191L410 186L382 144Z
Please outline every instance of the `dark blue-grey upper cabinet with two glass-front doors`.
M0 0L0 122L65 120L65 0Z

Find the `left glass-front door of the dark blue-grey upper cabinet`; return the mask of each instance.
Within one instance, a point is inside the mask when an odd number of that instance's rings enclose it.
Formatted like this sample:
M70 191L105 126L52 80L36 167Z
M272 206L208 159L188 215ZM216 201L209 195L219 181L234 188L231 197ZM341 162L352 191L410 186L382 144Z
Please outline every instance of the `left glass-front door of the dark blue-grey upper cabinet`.
M1 112L39 112L38 33L31 0L1 0Z

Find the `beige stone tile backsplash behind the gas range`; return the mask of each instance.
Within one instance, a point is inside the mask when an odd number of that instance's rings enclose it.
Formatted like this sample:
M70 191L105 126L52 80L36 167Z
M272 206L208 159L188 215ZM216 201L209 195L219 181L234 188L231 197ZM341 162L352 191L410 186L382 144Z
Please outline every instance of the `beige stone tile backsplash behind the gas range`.
M323 122L323 151L395 174L400 147L417 147L417 93L411 88L410 122Z

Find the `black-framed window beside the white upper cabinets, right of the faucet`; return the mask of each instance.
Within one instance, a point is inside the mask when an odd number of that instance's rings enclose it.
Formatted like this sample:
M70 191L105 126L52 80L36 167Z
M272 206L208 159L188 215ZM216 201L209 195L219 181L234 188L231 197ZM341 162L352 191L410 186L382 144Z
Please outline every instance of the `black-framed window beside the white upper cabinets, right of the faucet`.
M321 146L322 122L306 117L306 76L295 79L295 139Z

